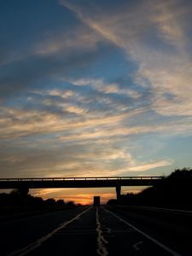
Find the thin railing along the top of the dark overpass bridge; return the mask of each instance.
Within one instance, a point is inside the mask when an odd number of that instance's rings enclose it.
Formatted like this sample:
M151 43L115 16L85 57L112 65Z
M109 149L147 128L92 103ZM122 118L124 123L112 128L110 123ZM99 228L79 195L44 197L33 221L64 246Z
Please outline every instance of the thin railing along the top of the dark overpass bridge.
M70 181L70 180L121 180L121 179L162 179L162 176L128 176L128 177L3 177L0 182L22 182L22 181Z

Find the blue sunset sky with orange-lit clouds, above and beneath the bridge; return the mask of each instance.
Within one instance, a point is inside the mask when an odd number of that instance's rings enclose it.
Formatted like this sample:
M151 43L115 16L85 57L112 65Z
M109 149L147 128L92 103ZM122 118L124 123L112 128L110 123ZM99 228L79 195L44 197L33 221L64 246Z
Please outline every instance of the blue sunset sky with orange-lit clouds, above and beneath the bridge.
M192 167L191 37L186 0L0 0L0 177ZM84 203L114 191L32 193Z

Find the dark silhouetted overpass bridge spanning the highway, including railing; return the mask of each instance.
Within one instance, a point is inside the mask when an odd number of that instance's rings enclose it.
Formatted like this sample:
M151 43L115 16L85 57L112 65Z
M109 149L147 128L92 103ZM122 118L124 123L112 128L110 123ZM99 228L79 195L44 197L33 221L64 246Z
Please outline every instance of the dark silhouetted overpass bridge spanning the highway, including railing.
M27 177L0 178L0 189L116 188L117 199L122 186L154 186L164 177Z

